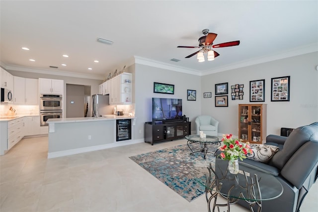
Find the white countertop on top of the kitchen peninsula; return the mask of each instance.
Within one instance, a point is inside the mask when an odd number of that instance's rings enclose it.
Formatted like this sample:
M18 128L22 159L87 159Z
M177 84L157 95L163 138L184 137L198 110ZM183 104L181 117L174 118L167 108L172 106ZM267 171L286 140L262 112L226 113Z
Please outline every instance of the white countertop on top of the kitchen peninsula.
M50 123L69 123L69 122L87 122L87 121L107 121L116 119L134 119L128 115L107 115L100 117L79 117L79 118L49 118L46 122Z

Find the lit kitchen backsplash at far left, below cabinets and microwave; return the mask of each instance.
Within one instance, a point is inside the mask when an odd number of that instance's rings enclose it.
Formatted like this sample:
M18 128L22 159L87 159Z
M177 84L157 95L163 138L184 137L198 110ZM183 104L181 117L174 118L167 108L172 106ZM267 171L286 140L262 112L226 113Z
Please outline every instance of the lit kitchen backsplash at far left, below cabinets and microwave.
M11 115L10 107L15 109L15 115L39 115L39 106L0 105L0 116Z

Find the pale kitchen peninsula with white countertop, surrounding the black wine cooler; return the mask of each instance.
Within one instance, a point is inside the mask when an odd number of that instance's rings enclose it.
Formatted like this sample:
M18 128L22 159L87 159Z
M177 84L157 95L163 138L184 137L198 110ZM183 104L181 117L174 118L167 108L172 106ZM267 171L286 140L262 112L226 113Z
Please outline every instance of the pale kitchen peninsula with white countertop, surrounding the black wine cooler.
M116 141L116 120L132 119L132 139ZM136 117L107 115L103 117L50 118L48 158L73 155L116 146L138 143L134 141Z

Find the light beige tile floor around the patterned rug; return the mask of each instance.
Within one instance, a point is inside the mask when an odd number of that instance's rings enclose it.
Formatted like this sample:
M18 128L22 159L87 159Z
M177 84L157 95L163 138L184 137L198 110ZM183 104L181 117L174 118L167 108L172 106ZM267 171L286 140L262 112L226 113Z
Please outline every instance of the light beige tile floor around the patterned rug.
M48 137L22 139L0 156L1 212L207 212L205 195L191 203L128 157L186 143L138 143L47 159ZM318 183L301 212L318 209ZM233 212L247 212L231 206Z

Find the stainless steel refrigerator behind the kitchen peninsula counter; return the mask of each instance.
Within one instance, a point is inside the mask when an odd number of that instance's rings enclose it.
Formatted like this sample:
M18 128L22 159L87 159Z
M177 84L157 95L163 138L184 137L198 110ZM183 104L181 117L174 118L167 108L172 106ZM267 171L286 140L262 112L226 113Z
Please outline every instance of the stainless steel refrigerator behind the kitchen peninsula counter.
M91 96L91 116L101 116L111 114L112 108L109 106L109 96L94 94Z

